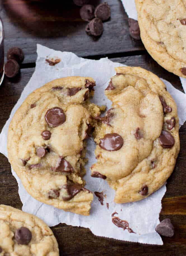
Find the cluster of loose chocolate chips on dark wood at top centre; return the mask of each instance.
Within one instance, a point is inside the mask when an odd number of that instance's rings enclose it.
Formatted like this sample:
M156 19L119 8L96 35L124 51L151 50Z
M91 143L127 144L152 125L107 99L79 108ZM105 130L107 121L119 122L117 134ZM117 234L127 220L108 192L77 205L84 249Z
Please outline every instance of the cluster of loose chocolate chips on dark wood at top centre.
M89 22L85 28L87 34L100 36L103 33L103 21L110 18L110 6L105 2L95 8L88 3L88 0L74 0L74 4L82 6L80 9L81 19Z

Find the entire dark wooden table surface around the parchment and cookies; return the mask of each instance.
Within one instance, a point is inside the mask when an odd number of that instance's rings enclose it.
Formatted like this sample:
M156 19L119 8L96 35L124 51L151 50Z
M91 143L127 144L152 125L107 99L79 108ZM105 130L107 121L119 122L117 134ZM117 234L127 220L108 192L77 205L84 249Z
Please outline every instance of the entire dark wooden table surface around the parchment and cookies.
M130 37L127 15L121 1L107 1L111 6L111 19L104 23L103 35L96 40L86 35L86 22L79 17L79 8L70 0L59 2L0 1L0 16L5 29L5 55L13 46L25 52L18 76L14 79L5 77L0 87L0 131L34 72L37 43L55 50L72 51L84 58L108 56L112 61L146 68L183 92L179 77L160 67L145 51L142 42ZM175 170L168 179L160 214L160 220L170 218L175 226L172 238L162 237L163 246L144 245L96 237L88 228L59 224L52 230L59 244L60 255L186 255L186 125L180 128L180 142L180 154ZM17 182L11 174L8 159L2 154L0 184L0 204L22 209Z

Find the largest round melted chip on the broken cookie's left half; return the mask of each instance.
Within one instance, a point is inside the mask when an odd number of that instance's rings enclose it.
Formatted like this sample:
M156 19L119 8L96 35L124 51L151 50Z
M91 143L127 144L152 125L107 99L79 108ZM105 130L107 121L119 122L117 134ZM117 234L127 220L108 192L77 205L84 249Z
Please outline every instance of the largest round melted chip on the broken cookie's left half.
M61 108L51 108L46 112L45 120L50 127L57 127L65 122L65 113Z

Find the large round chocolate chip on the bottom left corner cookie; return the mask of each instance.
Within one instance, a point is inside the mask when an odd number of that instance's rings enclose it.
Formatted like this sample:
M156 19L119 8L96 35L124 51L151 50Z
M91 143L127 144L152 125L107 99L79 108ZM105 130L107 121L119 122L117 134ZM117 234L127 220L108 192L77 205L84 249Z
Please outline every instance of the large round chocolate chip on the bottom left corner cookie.
M15 231L15 241L18 244L29 244L32 239L32 233L28 228L21 227Z

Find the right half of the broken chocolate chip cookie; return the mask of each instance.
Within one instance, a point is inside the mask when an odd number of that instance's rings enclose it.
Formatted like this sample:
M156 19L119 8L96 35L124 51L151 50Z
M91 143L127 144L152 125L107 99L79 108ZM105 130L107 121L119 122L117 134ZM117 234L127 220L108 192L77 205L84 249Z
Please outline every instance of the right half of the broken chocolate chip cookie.
M165 84L139 67L118 67L105 94L112 108L95 120L91 176L106 179L115 202L141 200L165 184L180 150L176 104Z

